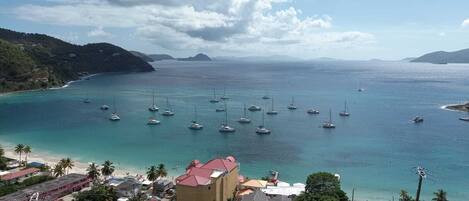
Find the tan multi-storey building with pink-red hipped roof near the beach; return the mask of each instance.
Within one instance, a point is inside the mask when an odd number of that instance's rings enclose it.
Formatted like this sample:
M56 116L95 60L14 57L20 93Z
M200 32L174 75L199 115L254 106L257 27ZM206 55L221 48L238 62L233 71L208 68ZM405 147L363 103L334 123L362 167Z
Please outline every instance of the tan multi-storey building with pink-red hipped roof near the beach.
M239 166L234 157L213 159L205 164L194 160L186 173L176 178L178 201L226 201L235 197Z

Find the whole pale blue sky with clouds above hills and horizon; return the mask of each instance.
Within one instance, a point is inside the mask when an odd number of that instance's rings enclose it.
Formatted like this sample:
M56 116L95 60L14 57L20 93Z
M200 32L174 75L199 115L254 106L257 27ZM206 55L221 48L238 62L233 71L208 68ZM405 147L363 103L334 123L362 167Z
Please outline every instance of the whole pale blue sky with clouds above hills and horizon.
M397 60L469 48L469 1L1 0L0 27L176 57Z

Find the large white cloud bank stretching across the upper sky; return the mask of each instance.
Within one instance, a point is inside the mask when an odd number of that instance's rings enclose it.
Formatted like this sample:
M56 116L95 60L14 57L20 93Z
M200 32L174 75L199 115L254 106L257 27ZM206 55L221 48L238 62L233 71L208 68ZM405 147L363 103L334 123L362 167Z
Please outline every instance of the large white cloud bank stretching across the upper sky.
M97 27L88 36L109 36L102 27L126 28L170 50L302 54L372 43L372 34L331 31L328 15L303 16L289 0L49 0L14 11L25 20L62 26ZM314 56L314 55L310 55Z

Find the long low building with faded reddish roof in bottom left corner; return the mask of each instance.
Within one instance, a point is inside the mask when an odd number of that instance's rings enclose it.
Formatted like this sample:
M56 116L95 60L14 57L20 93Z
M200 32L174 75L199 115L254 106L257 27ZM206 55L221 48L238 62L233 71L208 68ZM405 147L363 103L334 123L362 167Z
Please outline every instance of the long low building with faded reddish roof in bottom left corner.
M72 173L0 197L0 201L56 200L72 192L88 187L90 182L91 180L86 175Z

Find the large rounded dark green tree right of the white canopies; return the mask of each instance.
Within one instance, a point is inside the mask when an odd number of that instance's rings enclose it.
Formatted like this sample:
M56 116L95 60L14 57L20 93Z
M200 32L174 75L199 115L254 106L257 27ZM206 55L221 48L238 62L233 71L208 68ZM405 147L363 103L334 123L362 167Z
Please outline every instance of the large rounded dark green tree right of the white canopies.
M340 181L336 176L319 172L308 176L305 192L296 201L348 201L348 197L340 189Z

